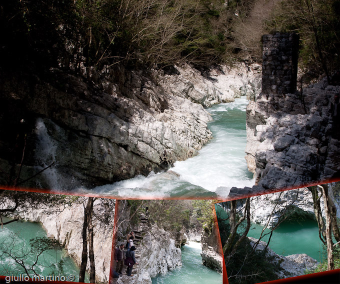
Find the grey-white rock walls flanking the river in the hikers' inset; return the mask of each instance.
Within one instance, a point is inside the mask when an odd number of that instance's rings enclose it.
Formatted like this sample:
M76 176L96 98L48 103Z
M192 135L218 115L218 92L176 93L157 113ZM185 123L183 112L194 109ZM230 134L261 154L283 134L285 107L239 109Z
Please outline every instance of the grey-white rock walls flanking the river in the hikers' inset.
M159 202L158 200L153 201L156 203ZM176 200L175 203L189 204L190 201L191 200ZM181 226L181 229L170 229L161 219L155 222L151 213L150 220L143 221L145 215L141 213L142 210L138 211L141 221L139 220L135 223L131 220L133 211L129 211L129 205L122 205L120 201L119 206L123 206L123 210L119 213L119 220L130 221L120 223L118 220L119 227L116 234L116 245L120 243L125 244L126 233L134 231L135 255L138 263L133 265L132 277L128 277L123 272L118 278L113 279L113 283L151 284L151 278L160 274L164 275L176 267L180 269L183 265L180 247L185 247L185 245L191 242L201 243L201 263L210 269L222 273L222 256L221 247L217 238L217 226L212 225L211 227L198 228L193 227L193 224L186 224ZM174 205L174 207L176 207L176 205ZM169 208L167 210L174 209ZM164 227L166 228L164 229Z

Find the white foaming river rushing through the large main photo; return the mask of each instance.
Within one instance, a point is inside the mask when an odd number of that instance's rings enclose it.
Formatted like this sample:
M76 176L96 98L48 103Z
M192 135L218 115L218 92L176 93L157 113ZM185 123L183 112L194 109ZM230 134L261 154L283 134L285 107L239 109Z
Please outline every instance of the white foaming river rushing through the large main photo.
M244 159L246 104L241 97L207 109L213 118L208 124L213 138L197 156L176 161L167 172L151 172L147 177L139 175L92 190L122 198L216 198L227 196L232 186L252 186L252 173Z

